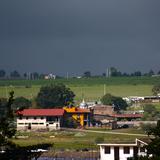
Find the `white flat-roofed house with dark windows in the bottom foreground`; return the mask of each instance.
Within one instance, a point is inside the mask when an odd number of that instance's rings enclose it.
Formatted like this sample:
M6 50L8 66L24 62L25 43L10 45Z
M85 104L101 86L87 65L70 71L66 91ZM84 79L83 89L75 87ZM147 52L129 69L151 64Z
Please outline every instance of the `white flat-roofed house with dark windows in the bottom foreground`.
M135 143L106 143L100 146L100 160L127 160L129 157L145 156L146 142L136 139Z

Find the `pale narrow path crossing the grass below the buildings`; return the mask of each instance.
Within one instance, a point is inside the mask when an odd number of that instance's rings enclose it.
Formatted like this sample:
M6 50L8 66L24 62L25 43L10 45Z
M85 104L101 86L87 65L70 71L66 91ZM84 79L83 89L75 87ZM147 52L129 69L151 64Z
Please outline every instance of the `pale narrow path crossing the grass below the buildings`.
M127 135L127 136L141 136L141 137L147 137L148 136L146 134L123 133L123 132L112 132L112 131L96 131L96 130L85 130L85 129L68 129L68 128L64 128L64 130L79 131L79 132L90 132L90 133L102 133L102 134L117 134L117 135Z

